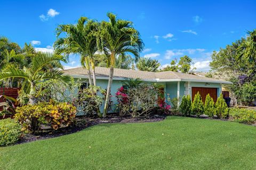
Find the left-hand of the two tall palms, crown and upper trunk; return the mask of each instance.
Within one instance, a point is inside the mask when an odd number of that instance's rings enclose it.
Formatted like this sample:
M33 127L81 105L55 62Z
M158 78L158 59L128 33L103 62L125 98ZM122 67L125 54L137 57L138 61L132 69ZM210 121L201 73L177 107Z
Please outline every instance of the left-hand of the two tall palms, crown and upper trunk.
M97 31L98 22L79 18L76 25L60 24L57 28L58 39L54 43L54 47L58 54L77 53L81 55L81 64L87 69L89 83L96 86L95 66L93 57L97 52L97 40L95 31ZM61 33L66 33L66 37L59 37ZM93 72L93 82L91 78L90 63Z

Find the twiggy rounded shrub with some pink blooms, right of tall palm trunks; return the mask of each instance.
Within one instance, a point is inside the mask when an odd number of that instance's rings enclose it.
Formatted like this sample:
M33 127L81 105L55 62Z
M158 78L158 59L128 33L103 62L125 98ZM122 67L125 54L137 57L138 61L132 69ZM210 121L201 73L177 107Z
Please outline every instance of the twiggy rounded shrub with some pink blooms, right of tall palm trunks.
M158 107L158 91L153 86L139 86L136 88L119 88L116 92L119 115L132 117L149 116Z

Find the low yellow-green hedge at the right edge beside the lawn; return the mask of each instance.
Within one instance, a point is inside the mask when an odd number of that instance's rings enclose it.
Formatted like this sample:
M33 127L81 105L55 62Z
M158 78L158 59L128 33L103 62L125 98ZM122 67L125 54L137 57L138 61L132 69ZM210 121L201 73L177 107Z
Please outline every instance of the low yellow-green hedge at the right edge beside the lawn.
M246 108L231 108L229 111L229 119L239 123L255 124L256 111Z

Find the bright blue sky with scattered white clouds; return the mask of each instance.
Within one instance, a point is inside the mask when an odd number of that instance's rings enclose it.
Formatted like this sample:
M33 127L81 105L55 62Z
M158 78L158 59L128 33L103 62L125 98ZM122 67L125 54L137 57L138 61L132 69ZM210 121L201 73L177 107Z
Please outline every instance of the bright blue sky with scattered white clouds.
M145 43L142 57L162 65L188 55L198 71L209 70L213 50L256 29L256 1L2 1L0 36L21 47L52 50L55 28L80 16L107 20L106 13L131 20ZM66 68L79 66L71 56Z

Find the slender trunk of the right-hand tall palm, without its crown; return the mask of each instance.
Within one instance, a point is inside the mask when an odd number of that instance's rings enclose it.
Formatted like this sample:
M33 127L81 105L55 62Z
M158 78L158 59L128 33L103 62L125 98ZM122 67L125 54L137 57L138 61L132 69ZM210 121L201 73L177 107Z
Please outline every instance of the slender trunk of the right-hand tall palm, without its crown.
M104 105L104 111L103 111L103 115L102 115L103 117L106 117L107 112L108 112L108 104L109 104L109 99L110 99L111 85L113 82L114 66L115 66L115 53L111 53L108 88L107 88L106 100L105 100L105 105Z

